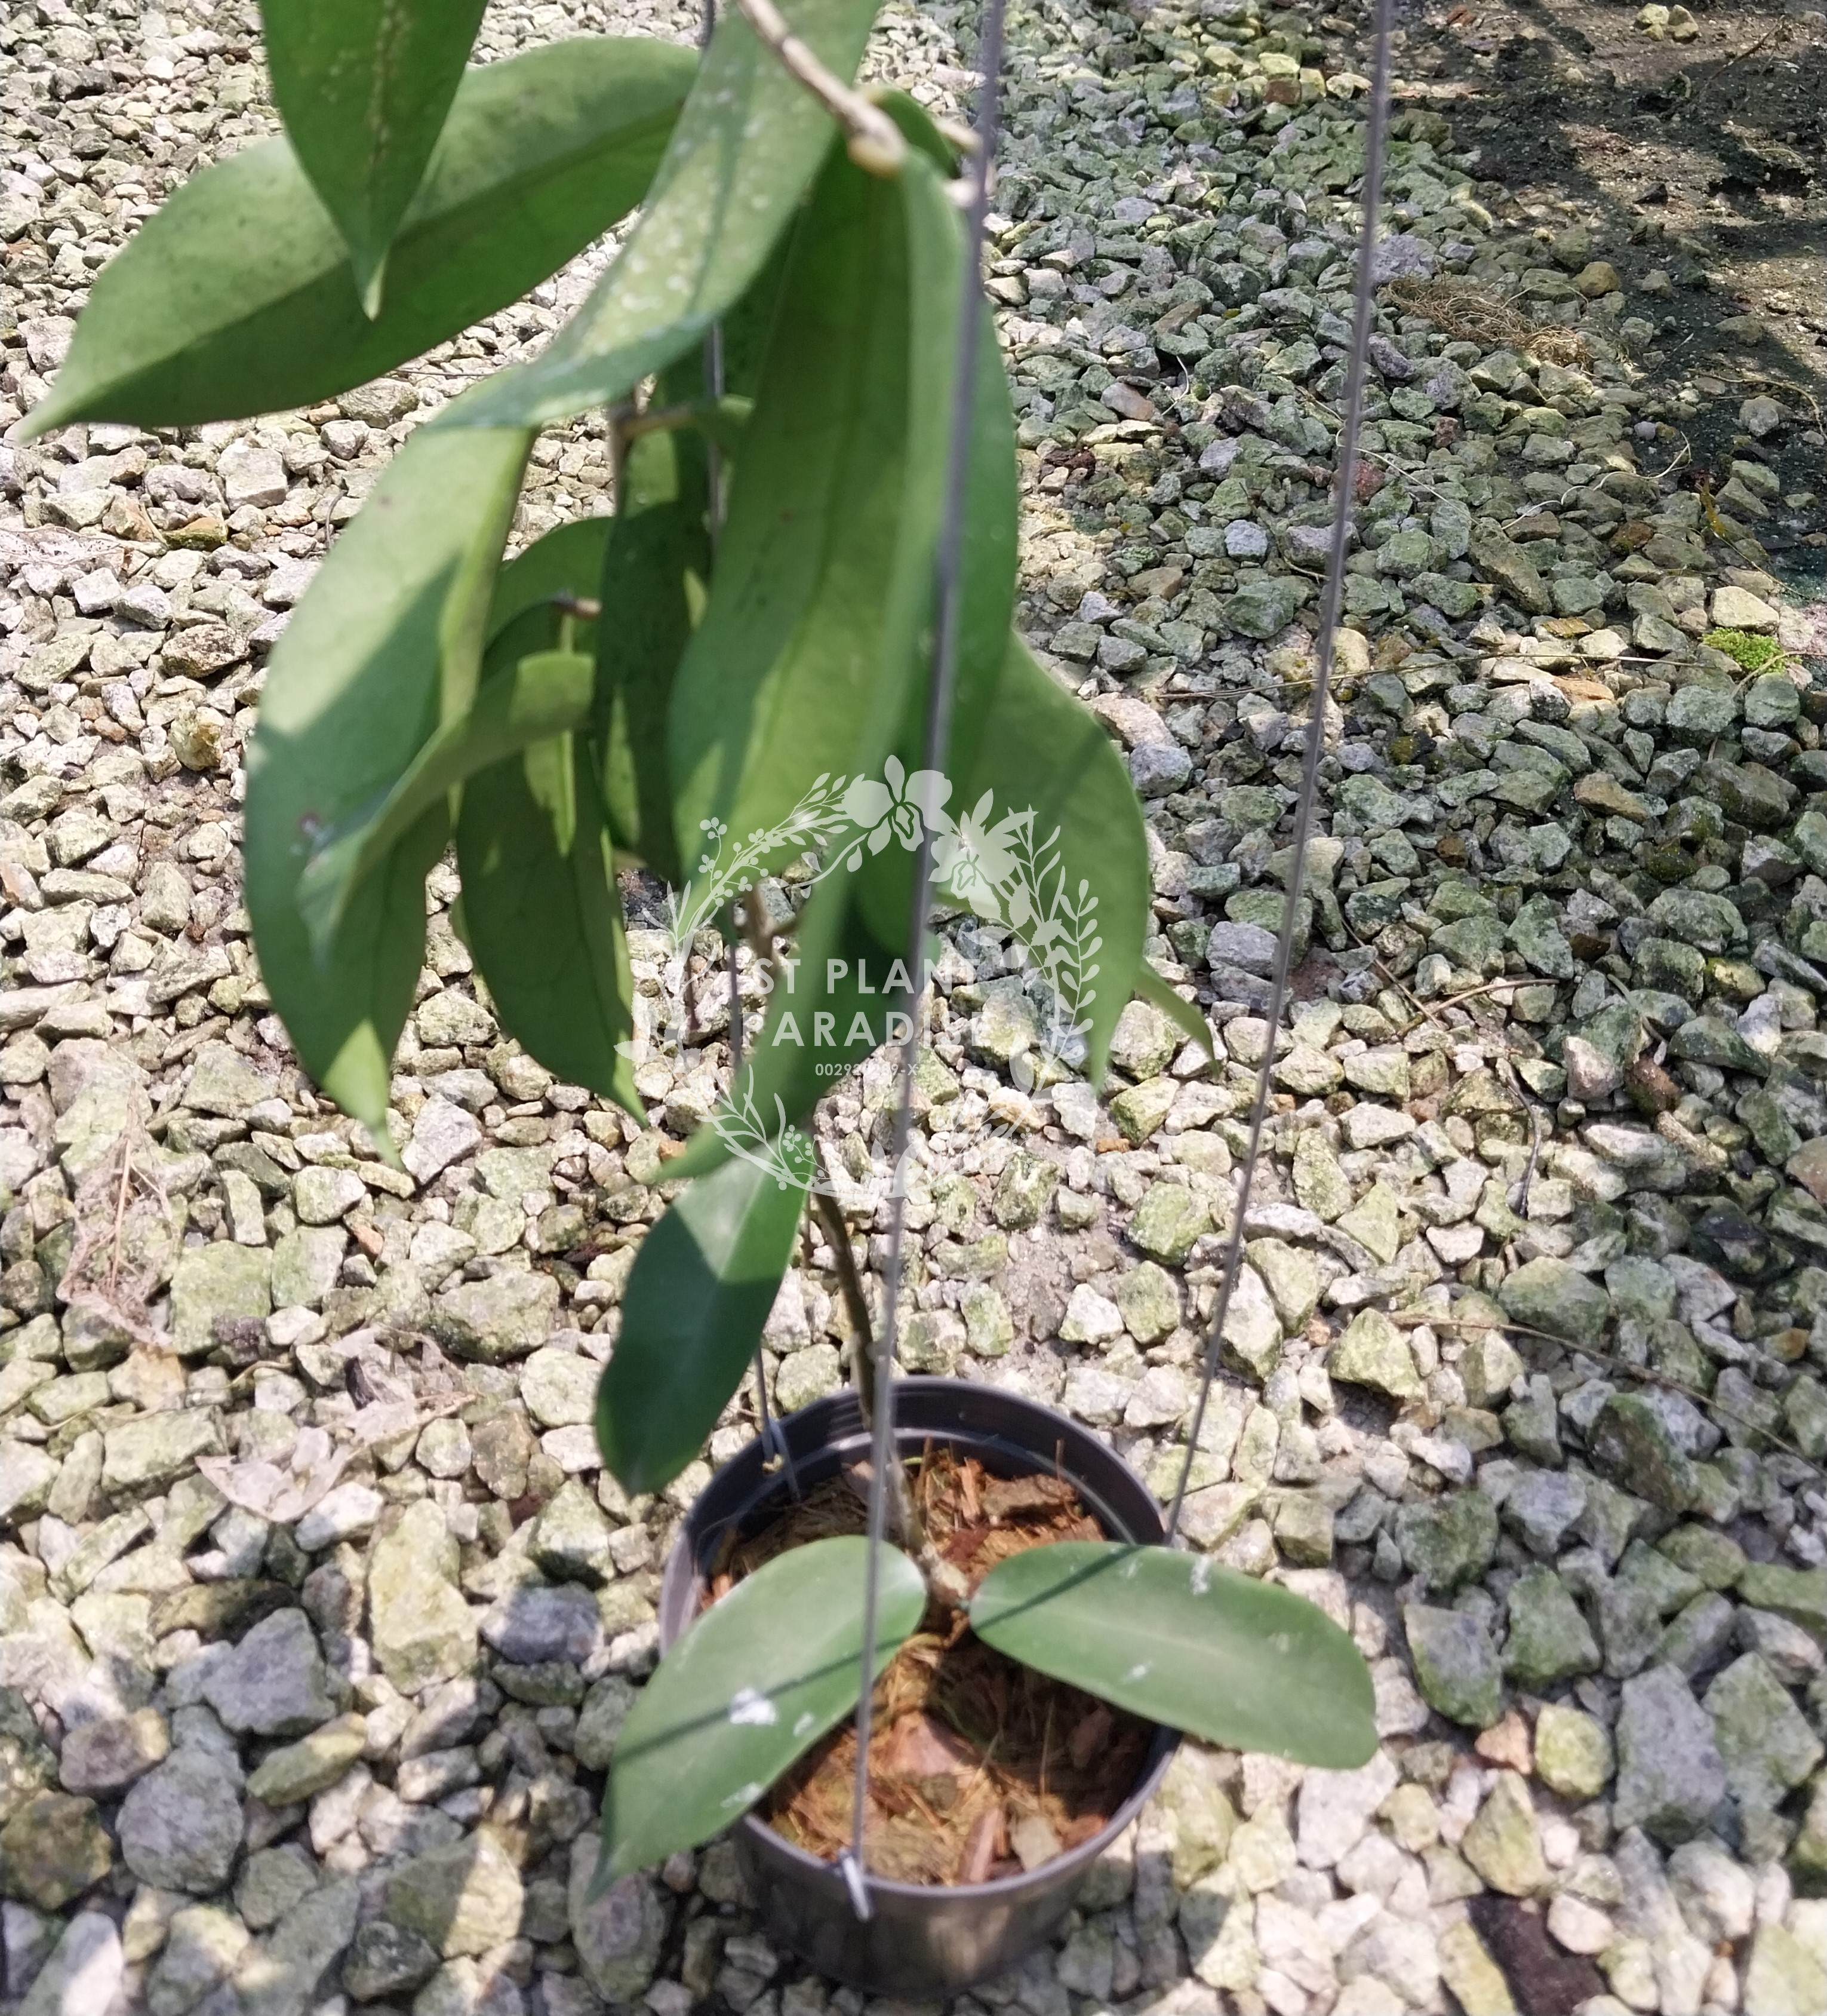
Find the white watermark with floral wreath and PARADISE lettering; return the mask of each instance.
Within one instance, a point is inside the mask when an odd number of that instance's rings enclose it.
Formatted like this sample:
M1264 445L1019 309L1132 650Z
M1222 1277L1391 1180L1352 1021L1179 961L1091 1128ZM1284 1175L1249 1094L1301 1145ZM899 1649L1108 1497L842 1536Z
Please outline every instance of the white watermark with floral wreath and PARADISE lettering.
M1037 1083L1039 1058L1080 1066L1098 998L1094 982L1104 943L1098 935L1098 897L1088 881L1074 883L1068 877L1060 829L1041 833L1031 806L997 812L993 792L983 792L973 806L953 812L951 796L953 784L939 770L908 772L890 756L880 778L820 776L786 818L757 827L743 839L735 839L723 821L705 821L697 869L669 897L663 1010L653 1034L667 1046L685 1042L691 1028L685 978L691 939L733 903L741 903L763 875L806 861L812 873L800 883L804 899L826 877L840 869L854 873L870 855L882 855L890 847L912 853L921 841L931 841L935 897L967 909L979 925L1007 933L1003 970L1019 974L1037 1014L1037 1042L1017 1052L1011 1066L1015 1085L1029 1091ZM798 962L780 964L792 992ZM929 980L925 972L910 976L896 960L882 980L882 994L912 998L908 1008L917 1014L917 998ZM774 974L765 968L763 986L774 990ZM878 1044L904 1042L912 1028L910 1014L886 1012ZM830 1046L836 1056L846 1058L832 1062L834 1079L862 1068L848 1056L858 1040L856 1020L842 1044L834 1016L812 1014L810 1022L810 1046ZM774 1016L769 1032L776 1042L806 1046L794 1010ZM866 1034L876 1032L870 1026ZM647 1040L624 1044L624 1050L645 1054ZM810 1181L828 1195L860 1202L858 1191L892 1193L908 1181L910 1169L890 1169L880 1151L870 1153L868 1179L828 1171L806 1133L788 1125L778 1099L774 1109L763 1113L739 1081L711 1111L711 1125L733 1155L765 1169L782 1185Z

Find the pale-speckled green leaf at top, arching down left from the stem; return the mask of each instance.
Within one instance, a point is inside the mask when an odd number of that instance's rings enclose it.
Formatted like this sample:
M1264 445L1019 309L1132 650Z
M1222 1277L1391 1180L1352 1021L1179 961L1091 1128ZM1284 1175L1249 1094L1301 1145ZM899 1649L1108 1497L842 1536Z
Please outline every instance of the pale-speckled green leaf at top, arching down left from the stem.
M788 0L812 52L852 77L876 0ZM832 121L727 8L641 222L544 355L459 399L445 425L548 425L624 397L749 288L830 149Z

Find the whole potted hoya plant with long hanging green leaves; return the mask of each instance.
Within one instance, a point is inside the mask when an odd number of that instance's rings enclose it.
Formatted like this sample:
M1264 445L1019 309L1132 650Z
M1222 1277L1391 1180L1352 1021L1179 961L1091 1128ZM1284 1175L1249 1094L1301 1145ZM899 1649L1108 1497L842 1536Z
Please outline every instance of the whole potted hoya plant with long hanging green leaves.
M1100 1083L1136 990L1203 1026L1142 958L1128 774L1011 633L1015 431L987 317L955 369L979 284L959 137L844 83L874 0L792 0L790 18L741 0L701 56L584 38L475 69L483 0L262 12L284 137L193 175L99 274L30 427L191 427L332 397L633 220L534 363L409 437L296 607L248 758L246 901L300 1060L381 1153L425 877L449 851L453 921L504 1026L641 1125L655 1030L637 1018L630 873L673 891L681 952L705 927L745 935L759 1014L745 1030L737 1006L715 1111L667 1165L600 1395L606 1464L657 1490L757 1347L816 1173L812 1107L917 1026L919 863L1023 954L1045 1068ZM969 435L949 486L955 385ZM540 429L592 411L614 512L506 560ZM949 488L955 681L935 762ZM935 1583L896 1538L876 1665ZM856 1710L866 1546L794 1548L687 1631L620 1744L614 1869L727 1826ZM1033 1548L975 1589L969 1623L1150 1722L1333 1766L1374 1746L1350 1639L1188 1554Z

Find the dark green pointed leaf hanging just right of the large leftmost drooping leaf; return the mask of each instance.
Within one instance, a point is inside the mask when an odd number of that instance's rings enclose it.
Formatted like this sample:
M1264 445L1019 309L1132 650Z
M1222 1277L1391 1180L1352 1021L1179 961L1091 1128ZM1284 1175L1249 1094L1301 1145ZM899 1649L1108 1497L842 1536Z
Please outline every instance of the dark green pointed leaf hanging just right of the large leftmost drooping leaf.
M457 873L467 943L510 1034L560 1079L645 1117L624 1048L635 976L622 899L582 736L534 742L463 784Z

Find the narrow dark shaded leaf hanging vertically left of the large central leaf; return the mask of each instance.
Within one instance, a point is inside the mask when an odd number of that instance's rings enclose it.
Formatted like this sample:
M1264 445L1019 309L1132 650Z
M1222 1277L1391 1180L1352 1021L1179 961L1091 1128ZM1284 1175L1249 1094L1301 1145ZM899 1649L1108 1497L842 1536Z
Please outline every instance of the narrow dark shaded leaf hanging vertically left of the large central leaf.
M707 458L695 429L641 435L602 554L596 748L616 845L677 887L667 710L711 579Z

